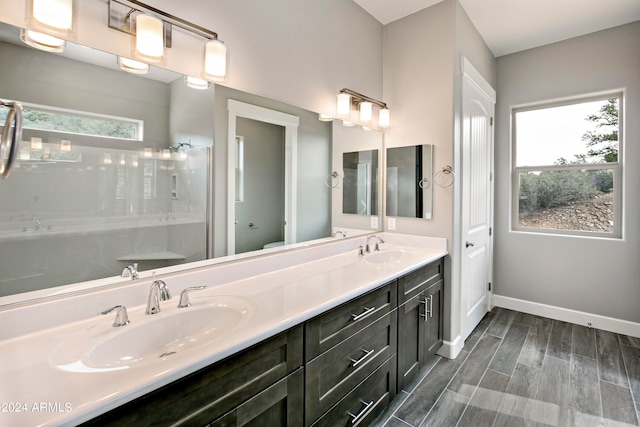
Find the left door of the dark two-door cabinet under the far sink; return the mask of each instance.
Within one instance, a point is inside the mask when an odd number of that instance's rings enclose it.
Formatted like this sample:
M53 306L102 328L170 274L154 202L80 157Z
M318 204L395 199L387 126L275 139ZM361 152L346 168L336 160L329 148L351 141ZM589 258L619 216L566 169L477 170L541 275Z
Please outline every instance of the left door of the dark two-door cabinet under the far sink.
M407 384L424 362L424 291L398 308L398 391Z

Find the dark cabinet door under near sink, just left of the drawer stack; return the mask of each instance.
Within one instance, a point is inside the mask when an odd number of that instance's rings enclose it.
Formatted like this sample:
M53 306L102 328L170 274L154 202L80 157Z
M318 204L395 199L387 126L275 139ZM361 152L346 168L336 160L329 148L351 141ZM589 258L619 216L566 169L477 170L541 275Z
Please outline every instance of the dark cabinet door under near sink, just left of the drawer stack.
M210 427L300 426L304 368L300 368L209 424Z

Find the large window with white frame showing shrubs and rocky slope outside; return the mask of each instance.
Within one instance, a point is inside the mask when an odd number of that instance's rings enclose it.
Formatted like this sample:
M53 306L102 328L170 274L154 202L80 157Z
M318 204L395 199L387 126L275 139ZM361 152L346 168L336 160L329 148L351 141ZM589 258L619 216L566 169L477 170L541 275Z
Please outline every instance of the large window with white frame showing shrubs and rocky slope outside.
M621 237L622 99L513 110L514 230Z

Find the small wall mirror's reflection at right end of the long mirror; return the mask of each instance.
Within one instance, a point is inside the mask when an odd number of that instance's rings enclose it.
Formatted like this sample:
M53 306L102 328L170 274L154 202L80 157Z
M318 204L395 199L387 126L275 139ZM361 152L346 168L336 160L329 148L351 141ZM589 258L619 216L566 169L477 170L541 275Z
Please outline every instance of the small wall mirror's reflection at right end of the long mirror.
M342 212L378 215L378 150L342 154Z

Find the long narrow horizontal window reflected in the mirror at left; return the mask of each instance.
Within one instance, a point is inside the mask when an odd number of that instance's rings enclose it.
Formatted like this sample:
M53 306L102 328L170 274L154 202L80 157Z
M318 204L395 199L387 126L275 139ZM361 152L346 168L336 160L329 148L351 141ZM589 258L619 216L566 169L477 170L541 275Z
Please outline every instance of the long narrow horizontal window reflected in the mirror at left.
M142 141L142 121L24 104L23 127L76 135ZM6 109L3 109L6 110ZM4 123L7 111L0 110Z

